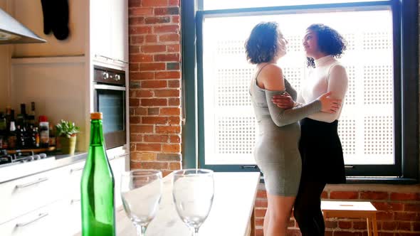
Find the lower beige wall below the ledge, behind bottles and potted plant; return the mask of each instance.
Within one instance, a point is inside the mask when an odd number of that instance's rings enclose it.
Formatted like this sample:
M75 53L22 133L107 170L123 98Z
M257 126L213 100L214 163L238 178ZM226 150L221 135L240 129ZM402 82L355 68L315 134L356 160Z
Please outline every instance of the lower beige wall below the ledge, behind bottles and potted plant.
M70 120L80 127L76 149L86 151L85 58L19 58L12 60L12 97L16 114L20 104L36 104L36 115L48 122ZM28 108L26 109L28 111Z

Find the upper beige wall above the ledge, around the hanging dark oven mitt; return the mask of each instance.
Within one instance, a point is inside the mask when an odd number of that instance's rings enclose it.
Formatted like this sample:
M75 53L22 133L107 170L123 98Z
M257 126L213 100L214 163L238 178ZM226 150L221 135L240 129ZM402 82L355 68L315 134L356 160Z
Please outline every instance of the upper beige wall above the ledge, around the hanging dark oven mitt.
M3 0L2 0L3 1ZM41 1L14 0L14 18L23 23L47 43L27 43L14 46L14 57L53 56L53 55L84 55L85 35L87 28L87 4L84 0L70 0L69 23L70 35L64 41L58 41L53 36L43 33L43 14Z

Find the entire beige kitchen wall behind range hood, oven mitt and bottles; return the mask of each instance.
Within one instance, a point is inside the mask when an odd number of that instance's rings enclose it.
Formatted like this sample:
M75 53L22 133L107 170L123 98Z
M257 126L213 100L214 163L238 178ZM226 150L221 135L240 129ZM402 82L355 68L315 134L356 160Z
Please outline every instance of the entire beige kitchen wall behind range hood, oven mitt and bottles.
M11 105L19 114L19 104L25 103L28 111L36 102L37 116L45 114L51 124L60 119L75 122L81 131L76 149L86 151L86 58L74 55L85 54L88 1L68 4L70 36L58 41L52 32L43 33L41 1L0 0L1 9L47 41L0 45L0 111ZM63 55L70 57L57 57Z

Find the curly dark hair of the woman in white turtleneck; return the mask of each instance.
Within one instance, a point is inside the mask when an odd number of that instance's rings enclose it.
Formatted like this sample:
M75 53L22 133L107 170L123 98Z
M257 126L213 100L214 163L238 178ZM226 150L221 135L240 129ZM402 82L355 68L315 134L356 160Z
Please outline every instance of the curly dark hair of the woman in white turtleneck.
M307 30L316 33L318 38L318 47L322 53L332 55L335 58L341 58L342 53L347 48L347 41L342 38L340 33L330 26L325 26L322 23L314 23L310 25ZM315 68L314 58L306 58L308 67Z

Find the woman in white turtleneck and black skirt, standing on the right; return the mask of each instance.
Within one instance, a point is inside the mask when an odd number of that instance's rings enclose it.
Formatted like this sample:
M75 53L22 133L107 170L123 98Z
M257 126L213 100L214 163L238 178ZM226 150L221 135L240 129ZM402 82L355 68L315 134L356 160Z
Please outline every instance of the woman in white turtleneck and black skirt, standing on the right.
M328 26L313 24L307 28L303 47L310 70L297 103L305 104L325 92L332 92L334 98L344 100L347 73L337 60L346 48L344 38ZM287 95L276 95L273 102L283 109L296 105ZM341 109L330 114L316 113L300 121L302 176L293 212L303 236L325 234L320 208L322 191L327 183L346 181L342 146L337 134Z

